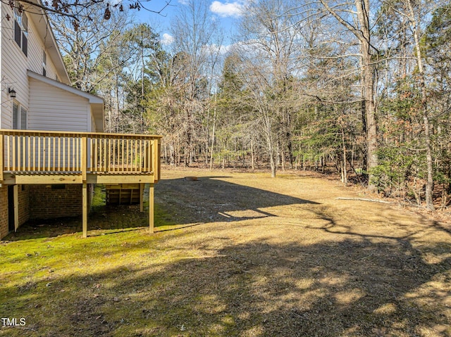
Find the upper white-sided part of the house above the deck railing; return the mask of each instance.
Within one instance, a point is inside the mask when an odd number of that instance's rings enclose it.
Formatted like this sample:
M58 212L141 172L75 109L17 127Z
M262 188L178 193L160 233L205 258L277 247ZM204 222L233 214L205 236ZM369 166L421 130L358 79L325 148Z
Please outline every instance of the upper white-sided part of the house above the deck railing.
M3 2L0 15L1 129L103 132L104 101L67 85L47 16Z

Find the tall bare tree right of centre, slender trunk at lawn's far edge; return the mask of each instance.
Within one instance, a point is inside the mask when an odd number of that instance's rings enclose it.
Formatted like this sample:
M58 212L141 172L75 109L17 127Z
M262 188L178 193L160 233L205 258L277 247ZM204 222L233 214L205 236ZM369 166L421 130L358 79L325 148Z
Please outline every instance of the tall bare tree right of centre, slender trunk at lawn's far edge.
M252 94L254 111L266 139L271 176L276 177L277 155L292 158L292 77L299 68L295 2L253 1L245 8L238 44L245 61L243 80ZM280 151L280 148L283 148ZM291 161L291 160L290 160Z

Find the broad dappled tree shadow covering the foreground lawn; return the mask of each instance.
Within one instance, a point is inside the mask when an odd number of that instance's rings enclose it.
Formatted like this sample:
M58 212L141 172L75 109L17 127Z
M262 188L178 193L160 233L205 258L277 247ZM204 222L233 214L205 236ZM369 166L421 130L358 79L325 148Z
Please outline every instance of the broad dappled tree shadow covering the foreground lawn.
M181 248L173 240L166 249ZM162 265L149 246L141 264L3 286L0 311L25 314L27 336L450 336L450 294L437 286L449 257L426 263L408 240L366 236L224 240Z

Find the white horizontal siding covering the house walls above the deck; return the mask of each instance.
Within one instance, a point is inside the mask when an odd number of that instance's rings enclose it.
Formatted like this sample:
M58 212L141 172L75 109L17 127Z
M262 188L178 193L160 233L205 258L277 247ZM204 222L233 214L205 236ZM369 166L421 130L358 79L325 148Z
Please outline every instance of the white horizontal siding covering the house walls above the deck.
M0 2L0 8L2 18L6 15L13 18L10 6ZM27 129L92 131L94 128L91 104L96 113L94 117L100 120L99 115L103 115L103 101L92 95L74 92L75 89L70 87L47 82L47 79L51 79L67 83L67 72L61 63L61 55L55 49L50 27L42 21L42 15L35 13L27 15L27 18L27 56L14 39L14 20L3 20L1 23L0 78L4 89L0 94L0 128L13 128L13 98L8 94L8 88L11 88L16 91L14 101L28 112L27 120L23 120ZM42 75L44 52L47 53L47 79L42 81L31 76L29 80L28 72Z

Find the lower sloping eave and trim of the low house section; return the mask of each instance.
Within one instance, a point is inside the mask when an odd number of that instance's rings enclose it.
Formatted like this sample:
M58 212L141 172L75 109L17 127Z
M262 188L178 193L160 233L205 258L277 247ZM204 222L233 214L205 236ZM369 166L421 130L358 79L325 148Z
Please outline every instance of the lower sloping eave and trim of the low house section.
M27 75L28 75L28 77L30 77L32 79L38 80L45 84L49 84L53 87L56 87L56 88L64 90L64 91L68 91L71 94L80 96L82 98L86 98L89 101L89 104L91 105L91 111L92 111L92 115L94 117L94 123L96 125L97 131L98 132L104 131L104 99L103 98L93 95L93 94L89 94L80 89L70 87L70 85L68 85L68 84L64 84L64 83L58 82L56 80L52 80L49 77L39 75L36 72L32 72L31 70L27 70Z

